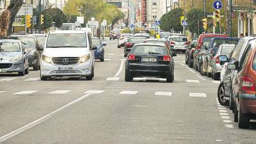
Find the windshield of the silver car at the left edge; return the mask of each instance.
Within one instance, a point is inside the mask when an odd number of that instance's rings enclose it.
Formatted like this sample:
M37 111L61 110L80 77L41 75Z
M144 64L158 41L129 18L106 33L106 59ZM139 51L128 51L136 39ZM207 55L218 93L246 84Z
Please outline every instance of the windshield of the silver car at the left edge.
M17 42L0 42L0 52L19 52L20 45Z

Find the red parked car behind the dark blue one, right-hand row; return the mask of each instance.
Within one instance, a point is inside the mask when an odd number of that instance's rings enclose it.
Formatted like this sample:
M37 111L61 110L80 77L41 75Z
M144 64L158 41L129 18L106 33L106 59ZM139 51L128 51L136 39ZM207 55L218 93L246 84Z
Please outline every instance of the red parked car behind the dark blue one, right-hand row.
M220 35L220 34L201 34L198 37L198 40L196 42L196 48L195 48L195 52L193 52L193 68L195 68L195 70L198 70L199 68L199 64L198 64L198 57L197 54L201 51L202 45L205 44L205 42L210 42L212 38L214 37L228 37L227 35Z

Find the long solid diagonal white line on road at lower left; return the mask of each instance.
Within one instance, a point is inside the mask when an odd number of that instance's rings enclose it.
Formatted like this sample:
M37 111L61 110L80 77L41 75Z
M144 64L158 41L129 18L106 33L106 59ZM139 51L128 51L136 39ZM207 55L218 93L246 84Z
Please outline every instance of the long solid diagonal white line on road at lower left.
M48 115L45 115L42 118L39 118L39 119L29 123L28 125L24 125L23 127L20 127L19 129L16 129L15 131L12 131L8 134L5 134L4 136L1 136L0 137L0 143L5 141L5 140L8 140L9 138L12 138L13 136L16 136L17 134L20 134L21 132L24 132L24 131L30 129L31 127L35 127L35 125L38 125L38 124L44 122L45 120L51 118L52 116L57 115L61 111L64 111L65 109L73 106L74 104L77 104L78 102L85 99L86 97L89 97L90 95L92 95L92 93L88 93L88 94L84 95L83 97L79 97L79 99L76 99L76 100L66 104L65 106L62 106L61 108L57 109L56 111L53 111L52 113L49 113Z

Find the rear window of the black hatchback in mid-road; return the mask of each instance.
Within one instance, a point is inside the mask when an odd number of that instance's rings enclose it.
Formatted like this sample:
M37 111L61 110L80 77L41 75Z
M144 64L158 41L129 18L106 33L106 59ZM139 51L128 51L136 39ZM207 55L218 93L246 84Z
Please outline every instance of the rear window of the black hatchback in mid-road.
M137 45L134 47L134 54L166 54L163 46L157 45Z

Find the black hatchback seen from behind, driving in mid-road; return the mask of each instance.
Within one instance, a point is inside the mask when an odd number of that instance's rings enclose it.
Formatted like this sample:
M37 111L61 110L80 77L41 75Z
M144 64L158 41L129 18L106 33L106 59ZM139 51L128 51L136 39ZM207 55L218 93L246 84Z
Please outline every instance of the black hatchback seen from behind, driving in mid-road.
M133 77L161 77L174 80L173 56L164 44L136 44L125 62L125 81Z

